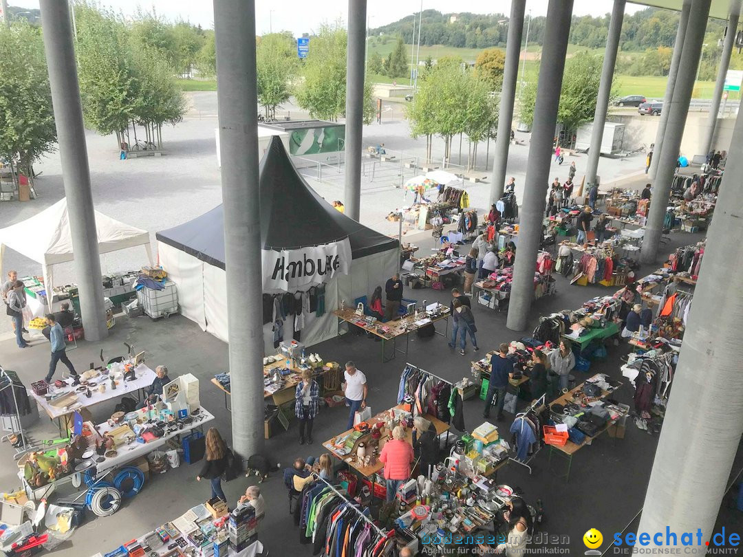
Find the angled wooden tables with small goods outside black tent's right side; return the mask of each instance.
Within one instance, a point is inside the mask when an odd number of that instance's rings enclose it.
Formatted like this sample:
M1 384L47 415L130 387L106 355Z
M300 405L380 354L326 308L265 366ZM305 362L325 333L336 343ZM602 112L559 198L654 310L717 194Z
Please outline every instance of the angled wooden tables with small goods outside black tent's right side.
M436 334L446 337L449 330L449 316L450 308L447 305L433 303L427 304L426 307L415 307L415 310L410 308L409 313L406 316L400 317L399 319L393 319L388 322L380 322L372 316L366 316L363 313L363 307L357 307L353 310L350 308L343 308L333 312L340 322L346 322L349 325L355 325L358 328L371 333L374 336L379 337L382 340L382 362L389 362L395 359L397 353L408 354L408 348L410 345L410 333L416 330L432 325L435 322L444 319L446 327L444 333L435 331ZM405 337L405 350L398 348L398 337ZM386 342L392 341L392 351L388 356L386 351Z

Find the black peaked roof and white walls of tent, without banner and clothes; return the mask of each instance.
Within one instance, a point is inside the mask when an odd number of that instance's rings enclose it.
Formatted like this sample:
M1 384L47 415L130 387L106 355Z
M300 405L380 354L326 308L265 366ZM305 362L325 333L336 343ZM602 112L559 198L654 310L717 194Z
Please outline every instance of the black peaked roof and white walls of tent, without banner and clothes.
M325 244L350 244L350 269L325 284L325 313L305 316L302 342L312 345L337 334L332 316L340 301L352 304L370 296L398 269L398 241L375 232L337 211L296 171L279 137L273 137L260 166L261 242L264 255ZM224 211L221 205L192 221L156 234L160 264L178 285L181 313L227 341L224 278ZM265 277L264 277L265 278ZM267 282L264 280L264 284ZM307 290L302 287L297 290ZM282 290L294 293L296 290ZM269 294L279 293L265 287ZM256 304L256 311L260 307ZM293 322L284 338L292 337ZM267 350L273 345L266 325ZM271 348L271 351L273 348ZM270 353L270 352L269 352Z

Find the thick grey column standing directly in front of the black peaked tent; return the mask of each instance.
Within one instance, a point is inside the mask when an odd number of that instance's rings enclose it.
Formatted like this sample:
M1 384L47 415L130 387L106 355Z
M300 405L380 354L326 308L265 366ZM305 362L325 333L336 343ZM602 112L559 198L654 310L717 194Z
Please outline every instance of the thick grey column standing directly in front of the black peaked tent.
M214 0L233 451L263 451L255 0Z

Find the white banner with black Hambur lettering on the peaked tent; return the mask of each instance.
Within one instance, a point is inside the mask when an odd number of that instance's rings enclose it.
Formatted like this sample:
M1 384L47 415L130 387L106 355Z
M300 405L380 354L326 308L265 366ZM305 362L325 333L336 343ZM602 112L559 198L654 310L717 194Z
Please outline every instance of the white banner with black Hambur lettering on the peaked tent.
M263 250L263 291L296 292L329 282L336 274L351 270L351 242L348 238L302 247L299 250Z

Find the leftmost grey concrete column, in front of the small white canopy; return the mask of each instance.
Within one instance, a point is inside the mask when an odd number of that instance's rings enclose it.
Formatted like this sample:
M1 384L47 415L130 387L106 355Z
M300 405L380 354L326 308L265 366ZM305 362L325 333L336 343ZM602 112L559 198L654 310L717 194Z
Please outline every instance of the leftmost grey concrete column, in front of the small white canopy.
M70 10L66 1L59 0L42 0L41 9L44 20L44 51L49 68L59 155L62 159L62 181L65 184L67 212L70 217L82 325L85 327L85 339L98 341L108 336L108 329L106 311L103 309L98 235L88 150L85 148L85 127L82 125Z

